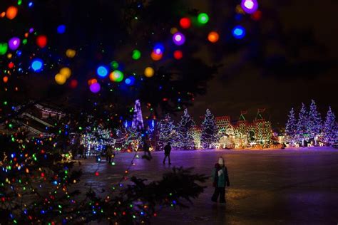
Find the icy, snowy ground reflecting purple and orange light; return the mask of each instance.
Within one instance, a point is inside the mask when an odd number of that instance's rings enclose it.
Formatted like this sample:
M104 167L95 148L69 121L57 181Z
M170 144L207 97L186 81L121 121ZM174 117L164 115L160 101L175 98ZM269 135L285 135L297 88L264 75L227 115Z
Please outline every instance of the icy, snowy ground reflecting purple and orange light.
M140 152L139 155L143 153ZM173 151L172 165L163 165L163 152L153 159L136 159L130 175L160 179L172 167L194 167L210 174L218 157L225 158L230 175L226 205L210 201L209 180L205 192L190 209L162 209L153 224L337 224L338 150L330 147L285 150ZM97 190L120 179L133 153L116 155L116 166L85 159L83 182ZM93 173L98 169L100 175Z

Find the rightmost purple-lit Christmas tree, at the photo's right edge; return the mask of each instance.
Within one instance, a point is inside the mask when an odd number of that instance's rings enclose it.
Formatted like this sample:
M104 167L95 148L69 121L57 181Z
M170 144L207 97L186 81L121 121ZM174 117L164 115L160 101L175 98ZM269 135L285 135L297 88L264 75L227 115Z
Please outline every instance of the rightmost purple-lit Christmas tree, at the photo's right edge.
M331 107L329 107L329 111L327 111L327 117L324 122L323 127L323 140L328 145L333 145L334 142L337 142L338 140L338 129L336 124L336 117L334 116L334 113L331 110Z

